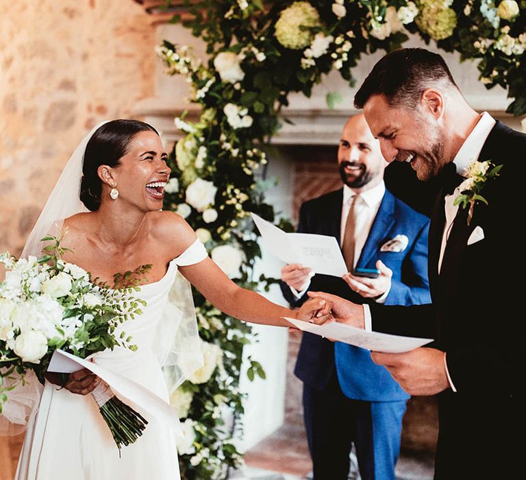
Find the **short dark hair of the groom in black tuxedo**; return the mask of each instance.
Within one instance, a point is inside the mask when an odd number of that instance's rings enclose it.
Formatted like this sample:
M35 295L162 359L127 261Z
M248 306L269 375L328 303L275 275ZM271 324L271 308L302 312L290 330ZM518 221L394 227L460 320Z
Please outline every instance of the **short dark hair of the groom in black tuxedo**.
M458 90L444 59L422 48L395 50L375 64L354 97L354 106L364 108L373 95L384 95L390 106L414 109L430 86Z

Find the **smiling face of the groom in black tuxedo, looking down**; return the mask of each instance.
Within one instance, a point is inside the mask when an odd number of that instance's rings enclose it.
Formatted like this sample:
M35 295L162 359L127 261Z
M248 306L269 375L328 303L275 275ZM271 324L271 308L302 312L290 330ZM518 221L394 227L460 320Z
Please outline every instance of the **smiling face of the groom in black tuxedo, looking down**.
M364 115L384 158L410 163L419 180L436 176L447 162L444 134L425 106L392 107L384 95L373 95L364 105Z

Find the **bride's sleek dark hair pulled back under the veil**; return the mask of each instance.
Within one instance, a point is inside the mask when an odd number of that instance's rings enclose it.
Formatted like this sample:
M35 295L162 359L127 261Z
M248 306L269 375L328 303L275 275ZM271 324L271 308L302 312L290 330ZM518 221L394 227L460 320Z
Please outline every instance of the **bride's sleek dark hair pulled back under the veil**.
M138 132L148 130L159 134L155 128L143 121L112 120L101 125L92 134L84 153L80 183L80 200L88 210L96 211L101 205L102 180L97 169L101 165L119 165L119 159L127 153L134 136Z

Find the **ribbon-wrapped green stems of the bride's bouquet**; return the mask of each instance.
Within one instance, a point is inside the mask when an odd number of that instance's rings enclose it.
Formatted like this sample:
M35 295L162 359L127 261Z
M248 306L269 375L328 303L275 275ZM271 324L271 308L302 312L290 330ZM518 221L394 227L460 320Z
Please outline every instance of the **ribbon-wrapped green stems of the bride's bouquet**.
M119 400L107 383L101 381L91 394L99 405L102 418L108 424L119 451L123 446L136 442L148 421Z

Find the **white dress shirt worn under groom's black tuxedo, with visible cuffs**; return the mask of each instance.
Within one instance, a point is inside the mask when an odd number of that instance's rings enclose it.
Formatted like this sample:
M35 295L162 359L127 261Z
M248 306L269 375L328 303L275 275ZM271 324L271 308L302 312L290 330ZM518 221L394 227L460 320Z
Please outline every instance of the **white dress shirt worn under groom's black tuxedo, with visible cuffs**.
M467 169L469 165L479 158L480 152L488 135L490 134L495 123L497 123L488 112L482 113L479 121L475 125L475 128L471 130L471 133L468 135L462 147L460 147L458 153L453 158L453 163L455 163L457 173L461 176L466 176ZM451 231L451 226L453 225L453 220L458 212L458 205L453 205L455 198L460 195L460 190L455 189L453 195L446 195L444 199L444 211L446 215L446 223L444 225L444 232L442 233L442 243L440 245L440 256L438 258L438 272L440 273L440 267L442 267L442 258L444 256L444 251L446 250L446 243L449 239L449 232ZM365 320L365 329L371 331L372 321L371 321L371 310L368 305L364 304L364 320ZM457 392L451 376L449 375L449 370L447 369L446 361L446 352L444 352L444 368L447 374L447 380L449 381L449 386L453 392Z

